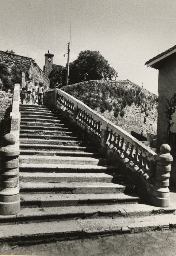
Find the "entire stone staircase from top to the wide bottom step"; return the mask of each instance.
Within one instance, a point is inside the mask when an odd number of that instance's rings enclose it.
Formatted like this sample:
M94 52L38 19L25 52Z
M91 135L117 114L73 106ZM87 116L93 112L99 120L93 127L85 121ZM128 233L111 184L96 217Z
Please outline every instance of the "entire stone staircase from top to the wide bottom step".
M134 184L52 108L20 105L20 113L21 210L0 216L0 240L130 232L129 223L175 211L142 204Z

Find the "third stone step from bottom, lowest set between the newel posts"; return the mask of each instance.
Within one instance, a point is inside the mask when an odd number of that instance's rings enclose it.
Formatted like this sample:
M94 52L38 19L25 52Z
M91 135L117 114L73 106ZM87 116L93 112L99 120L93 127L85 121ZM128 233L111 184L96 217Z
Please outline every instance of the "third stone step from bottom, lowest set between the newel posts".
M110 205L124 203L138 203L139 197L113 194L21 194L21 207L64 207L80 205Z

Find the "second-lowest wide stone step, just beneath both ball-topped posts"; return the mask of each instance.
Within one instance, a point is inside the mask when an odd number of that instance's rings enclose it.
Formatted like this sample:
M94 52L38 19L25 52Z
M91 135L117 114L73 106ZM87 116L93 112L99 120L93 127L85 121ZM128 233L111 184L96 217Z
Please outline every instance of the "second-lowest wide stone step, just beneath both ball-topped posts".
M167 214L167 217L172 217L170 213L175 212L175 207L155 207L146 204L113 204L106 205L106 207L99 205L89 205L89 206L70 206L70 207L35 207L35 208L21 208L20 212L15 215L0 215L1 225L11 225L11 224L21 224L21 223L36 223L36 222L53 222L53 226L56 222L61 222L72 219L95 219L99 218L101 221L100 227L103 225L103 220L116 219L119 218L124 220L131 217L146 217L151 216L153 219L157 216L163 216L162 214ZM156 215L157 214L157 215ZM158 215L159 214L159 215ZM127 218L130 217L130 218ZM136 220L137 220L136 219ZM141 219L142 220L142 219ZM54 221L56 221L54 223ZM69 222L68 222L69 223ZM168 218L169 223L169 218ZM45 223L47 225L47 223ZM38 227L38 224L37 224ZM5 227L4 231L8 229ZM16 228L13 226L13 230ZM25 228L25 227L24 227ZM85 228L85 227L84 227Z

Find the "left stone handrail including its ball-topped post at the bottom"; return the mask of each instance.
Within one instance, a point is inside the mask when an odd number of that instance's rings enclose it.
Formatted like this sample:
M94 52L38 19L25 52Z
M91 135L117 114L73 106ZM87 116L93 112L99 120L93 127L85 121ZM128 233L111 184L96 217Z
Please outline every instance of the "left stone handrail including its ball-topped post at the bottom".
M20 211L19 198L19 131L20 131L20 85L15 84L12 112L11 132L4 136L1 147L0 169L0 215L12 215Z

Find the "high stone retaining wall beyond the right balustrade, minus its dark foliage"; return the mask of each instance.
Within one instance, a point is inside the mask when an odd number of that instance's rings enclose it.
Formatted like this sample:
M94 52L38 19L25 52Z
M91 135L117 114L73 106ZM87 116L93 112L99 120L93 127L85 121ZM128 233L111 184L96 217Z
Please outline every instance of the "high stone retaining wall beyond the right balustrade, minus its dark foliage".
M118 104L120 101L122 101L122 96L115 99L110 95L110 91L113 92L116 88L118 89L118 87L122 87L124 91L130 89L139 89L145 98L146 107L143 106L142 108L142 104L138 105L134 103L132 103L131 106L126 105L124 108L123 117L121 117L120 114L118 117L114 116L114 107L111 111L106 110L103 113L100 111L100 108L95 108L94 110L129 133L134 131L144 136L147 136L148 132L156 134L158 103L154 101L154 99L157 98L157 96L147 90L142 89L137 84L134 84L129 80L122 80L118 82L91 80L65 86L63 89L66 91L66 93L69 93L73 97L88 105L88 99L92 98L95 100L95 95L98 97L99 95L102 95L104 88L109 88L109 93L106 93L106 101L110 102L113 106L113 102ZM146 109L145 112L144 109Z

